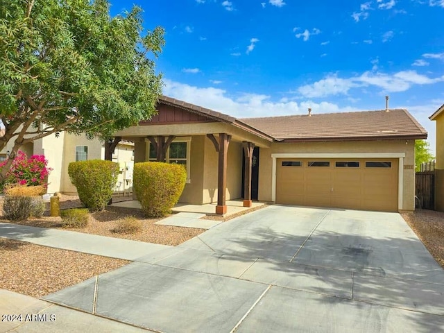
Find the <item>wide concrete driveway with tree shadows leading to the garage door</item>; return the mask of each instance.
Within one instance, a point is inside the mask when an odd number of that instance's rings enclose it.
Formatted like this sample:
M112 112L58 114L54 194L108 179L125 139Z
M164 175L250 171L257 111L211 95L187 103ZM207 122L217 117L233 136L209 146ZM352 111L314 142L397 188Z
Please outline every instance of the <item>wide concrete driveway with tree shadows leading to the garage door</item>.
M273 205L44 299L167 333L444 331L444 271L396 213Z

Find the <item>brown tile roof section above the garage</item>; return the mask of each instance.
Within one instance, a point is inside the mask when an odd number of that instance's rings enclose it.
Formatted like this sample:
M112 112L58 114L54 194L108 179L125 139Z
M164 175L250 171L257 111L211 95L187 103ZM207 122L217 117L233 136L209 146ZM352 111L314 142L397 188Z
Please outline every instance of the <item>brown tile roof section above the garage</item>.
M427 138L425 129L404 109L239 120L285 141Z

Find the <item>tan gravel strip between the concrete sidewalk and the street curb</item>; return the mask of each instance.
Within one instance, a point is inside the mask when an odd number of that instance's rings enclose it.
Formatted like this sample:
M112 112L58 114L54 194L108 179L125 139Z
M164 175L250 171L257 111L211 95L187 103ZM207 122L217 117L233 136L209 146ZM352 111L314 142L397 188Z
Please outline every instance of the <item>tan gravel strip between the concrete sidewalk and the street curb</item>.
M39 298L128 263L0 238L0 289Z

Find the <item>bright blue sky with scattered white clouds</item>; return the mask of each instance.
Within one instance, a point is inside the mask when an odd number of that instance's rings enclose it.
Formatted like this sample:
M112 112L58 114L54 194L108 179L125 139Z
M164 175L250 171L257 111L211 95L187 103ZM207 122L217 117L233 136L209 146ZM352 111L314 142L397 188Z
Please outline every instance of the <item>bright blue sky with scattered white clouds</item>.
M112 15L129 10L110 0ZM164 94L234 117L444 103L444 0L137 0L164 27Z

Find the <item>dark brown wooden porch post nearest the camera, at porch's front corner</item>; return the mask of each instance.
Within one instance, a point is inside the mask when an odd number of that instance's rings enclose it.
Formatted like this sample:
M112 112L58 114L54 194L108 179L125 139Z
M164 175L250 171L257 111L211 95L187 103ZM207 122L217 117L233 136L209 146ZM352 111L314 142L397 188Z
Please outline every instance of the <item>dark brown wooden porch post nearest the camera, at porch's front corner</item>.
M230 139L231 135L219 133L219 167L216 214L225 214L227 212L227 206L225 204L225 191L227 187L227 155Z

